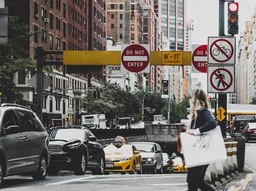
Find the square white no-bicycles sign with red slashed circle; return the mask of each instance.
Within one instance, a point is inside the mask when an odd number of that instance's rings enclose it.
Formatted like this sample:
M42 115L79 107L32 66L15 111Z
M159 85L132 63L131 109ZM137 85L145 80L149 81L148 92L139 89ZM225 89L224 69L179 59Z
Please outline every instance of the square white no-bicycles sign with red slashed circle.
M235 64L235 37L208 37L208 64Z

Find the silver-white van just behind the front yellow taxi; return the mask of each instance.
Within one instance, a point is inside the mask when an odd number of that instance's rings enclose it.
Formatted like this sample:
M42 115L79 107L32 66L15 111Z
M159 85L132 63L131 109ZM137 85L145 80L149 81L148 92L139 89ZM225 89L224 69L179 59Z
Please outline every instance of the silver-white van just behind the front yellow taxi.
M163 172L162 149L159 144L153 142L132 142L142 156L143 173L152 174Z

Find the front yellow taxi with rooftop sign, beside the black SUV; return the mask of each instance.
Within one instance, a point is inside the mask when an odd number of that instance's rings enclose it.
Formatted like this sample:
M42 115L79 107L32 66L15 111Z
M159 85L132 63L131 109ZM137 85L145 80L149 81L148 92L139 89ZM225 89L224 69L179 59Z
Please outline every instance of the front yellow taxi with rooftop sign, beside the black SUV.
M103 147L105 152L106 168L104 174L120 172L125 174L142 174L142 157L140 152L131 144L127 144L123 137L118 136L113 144Z

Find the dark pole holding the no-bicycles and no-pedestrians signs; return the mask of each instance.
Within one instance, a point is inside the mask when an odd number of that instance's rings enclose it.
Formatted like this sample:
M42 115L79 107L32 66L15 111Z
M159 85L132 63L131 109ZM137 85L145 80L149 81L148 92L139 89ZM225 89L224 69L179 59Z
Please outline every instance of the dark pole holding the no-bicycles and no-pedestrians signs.
M219 0L219 37L225 36L224 6L225 0ZM227 137L227 93L219 93L218 97L218 108L222 107L226 111L224 113L225 118L218 121L218 125L220 125L222 137Z

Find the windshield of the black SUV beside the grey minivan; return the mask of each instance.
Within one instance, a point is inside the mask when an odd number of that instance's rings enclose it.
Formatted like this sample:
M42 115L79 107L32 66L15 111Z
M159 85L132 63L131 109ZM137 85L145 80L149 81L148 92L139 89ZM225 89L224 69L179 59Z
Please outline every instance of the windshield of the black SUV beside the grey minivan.
M70 141L72 139L84 140L85 134L82 129L53 129L49 135L50 139Z

